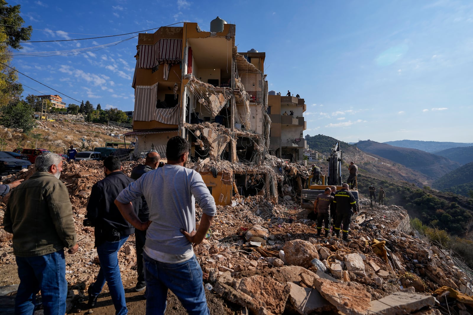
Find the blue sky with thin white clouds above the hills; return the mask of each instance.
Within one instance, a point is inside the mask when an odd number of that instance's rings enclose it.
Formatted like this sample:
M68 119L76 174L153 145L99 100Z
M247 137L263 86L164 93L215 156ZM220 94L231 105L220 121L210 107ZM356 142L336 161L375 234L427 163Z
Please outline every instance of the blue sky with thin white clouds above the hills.
M21 5L25 26L34 28L30 41L126 34L184 21L209 31L210 21L219 16L236 25L239 52L254 48L266 53L269 90L290 90L305 99L304 136L323 134L345 142L473 142L468 131L473 114L470 0L9 4ZM133 110L136 35L23 43L14 52L27 57L15 55L12 64L60 92L19 75L23 96L59 94L66 104L89 100L102 109Z

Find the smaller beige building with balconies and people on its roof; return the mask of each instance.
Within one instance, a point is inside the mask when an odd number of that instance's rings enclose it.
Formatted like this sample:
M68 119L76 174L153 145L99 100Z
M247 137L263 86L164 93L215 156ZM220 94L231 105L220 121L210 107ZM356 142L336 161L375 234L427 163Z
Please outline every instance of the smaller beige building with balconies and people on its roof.
M303 98L281 96L275 91L268 95L268 114L271 118L270 153L291 162L301 162L307 140L304 112L307 106ZM291 115L292 111L292 115Z

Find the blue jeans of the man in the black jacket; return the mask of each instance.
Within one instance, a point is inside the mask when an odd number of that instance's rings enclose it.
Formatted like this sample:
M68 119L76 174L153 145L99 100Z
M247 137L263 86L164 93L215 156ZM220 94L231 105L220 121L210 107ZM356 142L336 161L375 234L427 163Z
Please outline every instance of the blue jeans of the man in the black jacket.
M91 284L89 293L93 297L99 295L107 281L110 296L115 306L116 315L128 314L125 302L125 289L123 289L120 266L118 265L118 251L125 244L128 235L122 236L117 242L106 242L97 246L97 255L100 260L100 270L97 280Z

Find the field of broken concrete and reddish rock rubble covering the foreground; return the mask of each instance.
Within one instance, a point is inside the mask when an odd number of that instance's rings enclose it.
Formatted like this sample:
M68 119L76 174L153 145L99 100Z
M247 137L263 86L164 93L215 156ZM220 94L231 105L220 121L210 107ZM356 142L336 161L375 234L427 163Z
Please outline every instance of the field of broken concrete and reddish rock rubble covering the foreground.
M274 163L277 167L277 161ZM124 173L129 175L136 164L123 162ZM104 178L102 165L96 161L70 163L61 175L70 193L79 240L79 252L66 255L68 306L73 312L84 310L85 303L80 301L99 270L93 228L82 226L82 221L92 185ZM196 166L199 164L189 165ZM289 174L295 166L287 166ZM237 172L237 165L231 167ZM33 172L32 168L25 170L4 182L27 178ZM284 191L288 187L283 186ZM297 194L292 194L292 200L277 195L278 203L274 196L234 196L233 206L218 206L210 239L194 247L204 272L203 282L210 289L208 297L213 303L221 302L218 311L211 308L213 314L472 312L472 299L455 298L455 291L442 294L445 289L434 293L447 287L471 296L472 278L455 266L447 252L410 229L409 216L402 207L376 205L371 211L366 199L361 200L361 212L350 226L353 241L346 243L340 238L317 238L315 222L307 219L307 210L298 206ZM4 198L7 201L8 196ZM4 209L5 204L0 207ZM200 215L197 208L196 220ZM3 212L0 216L3 220ZM7 292L0 297L0 305L6 305L6 299L11 302L18 284L11 238L0 229L0 294ZM120 250L119 261L123 282L134 286L133 236ZM140 303L144 306L145 301ZM142 312L136 314L144 314L144 307Z

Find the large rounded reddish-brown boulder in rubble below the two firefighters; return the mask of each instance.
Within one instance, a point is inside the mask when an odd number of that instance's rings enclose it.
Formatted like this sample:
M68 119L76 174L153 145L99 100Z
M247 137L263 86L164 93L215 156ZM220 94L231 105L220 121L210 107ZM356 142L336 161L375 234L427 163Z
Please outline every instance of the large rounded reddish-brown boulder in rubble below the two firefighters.
M284 257L288 264L309 268L312 259L319 259L319 253L314 244L302 239L286 242L283 247Z

